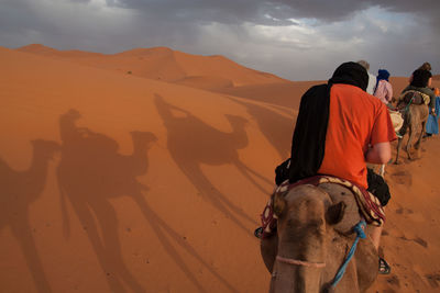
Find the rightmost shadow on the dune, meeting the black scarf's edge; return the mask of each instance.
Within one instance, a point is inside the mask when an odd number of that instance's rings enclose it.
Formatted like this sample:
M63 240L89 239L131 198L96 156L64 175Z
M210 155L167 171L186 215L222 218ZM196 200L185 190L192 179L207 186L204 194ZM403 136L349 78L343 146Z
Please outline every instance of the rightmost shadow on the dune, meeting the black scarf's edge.
M256 120L261 132L278 151L280 158L290 157L290 149L286 146L292 144L293 119L280 115L266 106L245 102L243 99L231 100L248 109L248 113Z

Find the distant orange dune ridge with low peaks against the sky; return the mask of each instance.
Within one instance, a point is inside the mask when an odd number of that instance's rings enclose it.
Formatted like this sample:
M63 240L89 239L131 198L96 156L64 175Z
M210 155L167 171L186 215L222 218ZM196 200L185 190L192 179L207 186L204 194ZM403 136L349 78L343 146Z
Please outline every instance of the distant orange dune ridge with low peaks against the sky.
M121 74L168 82L190 83L200 77L201 88L245 86L254 83L287 82L271 74L238 65L222 56L198 56L172 50L167 47L136 48L113 55L79 50L56 50L38 44L18 48L20 52L53 56L98 68L112 69ZM216 79L212 79L215 77ZM219 82L222 80L222 82ZM209 82L211 81L211 82ZM209 84L207 84L209 83Z

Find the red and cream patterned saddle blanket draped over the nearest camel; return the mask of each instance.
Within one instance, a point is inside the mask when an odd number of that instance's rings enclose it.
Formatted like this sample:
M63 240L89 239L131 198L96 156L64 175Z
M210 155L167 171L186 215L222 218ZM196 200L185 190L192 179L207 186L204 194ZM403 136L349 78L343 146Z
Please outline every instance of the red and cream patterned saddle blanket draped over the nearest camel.
M359 211L365 221L374 226L381 226L385 222L385 211L381 205L381 202L371 192L366 191L364 188L358 184L332 176L315 176L310 178L302 179L293 184L288 180L285 180L278 187L276 187L274 193L268 200L266 206L264 207L263 214L261 215L263 235L262 238L268 237L274 232L276 232L277 216L273 212L273 199L275 194L280 194L285 196L293 188L301 184L311 184L319 187L322 183L334 183L343 185L350 189L354 195L358 203Z

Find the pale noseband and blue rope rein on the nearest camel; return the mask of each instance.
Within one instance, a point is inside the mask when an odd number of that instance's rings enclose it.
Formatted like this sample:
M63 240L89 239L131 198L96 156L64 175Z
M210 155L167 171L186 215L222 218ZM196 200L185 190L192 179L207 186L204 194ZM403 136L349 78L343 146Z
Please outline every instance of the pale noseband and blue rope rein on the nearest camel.
M350 260L353 258L354 252L356 251L358 243L360 238L365 238L365 233L364 233L364 227L366 226L365 221L361 219L355 226L354 226L354 232L356 233L356 239L354 239L353 245L350 248L349 255L346 256L344 262L342 266L339 268L337 274L334 275L333 282L331 283L332 288L336 288L339 281L341 281L343 274L345 273L346 266L349 264ZM297 259L292 259L292 258L283 258L280 256L276 256L276 260L288 263L288 264L294 264L294 266L304 266L304 267L310 267L310 268L324 268L326 262L310 262L310 261L304 261L304 260L297 260Z

